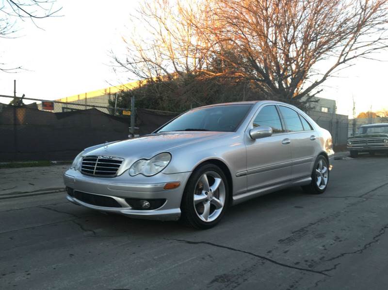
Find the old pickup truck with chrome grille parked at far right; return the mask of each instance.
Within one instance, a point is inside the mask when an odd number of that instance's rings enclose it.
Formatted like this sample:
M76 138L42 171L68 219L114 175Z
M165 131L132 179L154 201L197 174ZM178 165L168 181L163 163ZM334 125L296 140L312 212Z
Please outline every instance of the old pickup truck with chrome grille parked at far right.
M348 138L350 156L358 153L387 153L388 156L388 123L363 125L355 136Z

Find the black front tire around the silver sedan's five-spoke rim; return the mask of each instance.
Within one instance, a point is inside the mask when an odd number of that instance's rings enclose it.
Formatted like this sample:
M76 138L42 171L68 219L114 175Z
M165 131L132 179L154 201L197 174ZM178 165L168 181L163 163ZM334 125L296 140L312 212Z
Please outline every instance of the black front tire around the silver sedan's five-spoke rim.
M224 188L225 188L225 200L224 206L221 210L221 213L213 221L205 222L200 219L195 208L194 208L194 192L197 188L197 183L203 174L206 172L213 171L218 173L221 177ZM229 205L229 186L227 183L225 173L216 165L210 163L204 163L196 168L192 175L189 178L188 183L186 184L185 190L183 192L182 201L180 205L181 217L180 221L185 225L194 227L196 229L210 229L220 222L223 215L226 212L226 209Z

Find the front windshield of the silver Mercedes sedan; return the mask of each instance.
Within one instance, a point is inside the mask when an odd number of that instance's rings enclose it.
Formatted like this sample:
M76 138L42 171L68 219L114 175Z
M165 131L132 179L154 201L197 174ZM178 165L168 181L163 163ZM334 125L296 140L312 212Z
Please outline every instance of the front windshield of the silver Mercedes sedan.
M252 104L224 105L190 110L162 127L158 132L221 131L233 132Z

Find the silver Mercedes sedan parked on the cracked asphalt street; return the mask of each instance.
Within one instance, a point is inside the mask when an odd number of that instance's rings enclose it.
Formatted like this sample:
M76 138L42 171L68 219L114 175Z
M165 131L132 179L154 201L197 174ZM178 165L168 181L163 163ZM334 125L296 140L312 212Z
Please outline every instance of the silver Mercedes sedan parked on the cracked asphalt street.
M152 134L86 148L65 172L67 199L105 213L216 225L234 204L301 185L323 193L328 131L273 101L189 110Z

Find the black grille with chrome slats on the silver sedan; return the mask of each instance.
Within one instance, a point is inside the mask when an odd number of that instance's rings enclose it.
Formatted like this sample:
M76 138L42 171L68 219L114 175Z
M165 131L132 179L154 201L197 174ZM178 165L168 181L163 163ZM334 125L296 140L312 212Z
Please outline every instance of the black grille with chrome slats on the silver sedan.
M113 177L124 159L112 156L85 156L81 172L87 175Z

